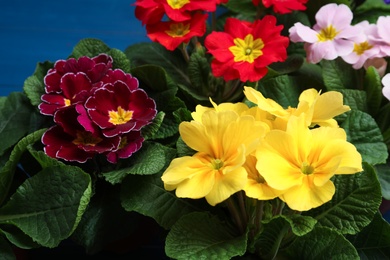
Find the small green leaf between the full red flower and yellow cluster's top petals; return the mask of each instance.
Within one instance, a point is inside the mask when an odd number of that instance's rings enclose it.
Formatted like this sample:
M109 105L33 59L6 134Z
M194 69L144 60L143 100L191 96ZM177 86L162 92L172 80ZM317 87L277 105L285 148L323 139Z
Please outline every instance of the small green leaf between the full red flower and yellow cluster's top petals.
M301 93L300 89L294 84L291 77L287 75L278 76L259 81L258 89L266 98L271 98L278 102L284 108L288 106L296 107Z

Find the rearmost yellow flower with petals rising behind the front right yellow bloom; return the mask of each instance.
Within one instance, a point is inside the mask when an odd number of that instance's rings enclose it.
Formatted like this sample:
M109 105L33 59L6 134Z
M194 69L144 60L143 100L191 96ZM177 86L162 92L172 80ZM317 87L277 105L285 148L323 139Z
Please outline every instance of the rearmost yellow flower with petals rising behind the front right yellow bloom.
M297 108L289 107L284 109L274 100L265 98L259 91L244 87L244 94L247 99L264 111L270 113L273 128L285 130L290 116L306 114L307 126L331 126L338 127L333 117L350 110L349 106L343 105L343 95L337 91L329 91L321 94L316 89L307 89L299 96ZM271 117L269 117L271 119Z

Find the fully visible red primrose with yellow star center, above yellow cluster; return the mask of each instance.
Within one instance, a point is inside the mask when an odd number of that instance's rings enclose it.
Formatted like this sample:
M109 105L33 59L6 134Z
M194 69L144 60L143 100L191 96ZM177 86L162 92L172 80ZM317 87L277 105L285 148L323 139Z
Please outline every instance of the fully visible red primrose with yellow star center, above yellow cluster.
M236 18L226 19L224 32L212 32L205 39L205 47L214 59L211 69L225 81L258 81L267 66L287 58L289 40L281 36L282 25L276 25L271 15L253 24Z

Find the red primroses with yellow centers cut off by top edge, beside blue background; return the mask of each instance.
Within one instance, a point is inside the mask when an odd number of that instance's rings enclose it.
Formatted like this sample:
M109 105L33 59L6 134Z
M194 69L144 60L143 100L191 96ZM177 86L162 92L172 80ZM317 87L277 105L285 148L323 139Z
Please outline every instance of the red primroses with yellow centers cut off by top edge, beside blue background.
M227 0L137 0L135 16L146 25L148 37L173 51L181 43L206 33L207 14ZM167 18L167 20L164 20Z

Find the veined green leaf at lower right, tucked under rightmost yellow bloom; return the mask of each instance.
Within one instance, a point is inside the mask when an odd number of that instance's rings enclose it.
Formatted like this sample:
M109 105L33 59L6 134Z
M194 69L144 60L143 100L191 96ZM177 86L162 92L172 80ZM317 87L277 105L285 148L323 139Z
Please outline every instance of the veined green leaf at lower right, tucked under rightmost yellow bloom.
M336 176L333 181L336 193L332 200L306 214L316 218L317 225L342 234L360 232L371 222L382 201L374 168L363 163L363 169L354 175Z

